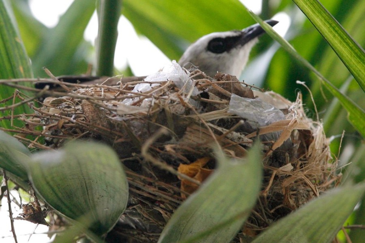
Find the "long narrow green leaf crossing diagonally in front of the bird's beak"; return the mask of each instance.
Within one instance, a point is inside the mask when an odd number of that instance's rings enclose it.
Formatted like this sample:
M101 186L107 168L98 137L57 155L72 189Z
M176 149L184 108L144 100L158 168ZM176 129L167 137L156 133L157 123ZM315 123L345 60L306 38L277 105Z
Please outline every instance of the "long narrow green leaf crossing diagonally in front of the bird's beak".
M354 126L354 128L356 128L358 132L360 132L361 135L365 137L365 111L362 110L356 103L351 101L351 99L346 95L342 94L333 84L330 83L330 81L324 78L320 72L318 72L306 59L301 57L296 52L296 50L287 42L287 40L278 35L271 26L262 21L262 19L260 19L260 17L255 15L253 12L249 11L248 9L247 11L262 26L268 35L281 44L285 51L297 59L303 66L307 67L317 75L317 77L322 81L323 85L326 86L327 89L339 99L342 106L345 107L348 112L349 121Z

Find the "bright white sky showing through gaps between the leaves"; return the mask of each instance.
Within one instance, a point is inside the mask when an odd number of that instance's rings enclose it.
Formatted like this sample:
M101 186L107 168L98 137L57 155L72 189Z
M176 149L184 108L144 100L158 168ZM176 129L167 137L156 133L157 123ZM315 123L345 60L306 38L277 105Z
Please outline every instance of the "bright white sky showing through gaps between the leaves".
M47 27L54 27L58 23L59 16L62 15L73 0L31 0L31 11L34 16L45 24ZM248 8L255 13L261 11L261 1L241 0ZM289 27L289 18L284 13L279 13L272 19L280 21L276 26L276 31L284 35ZM242 28L244 28L243 26ZM135 75L149 75L165 64L170 63L170 60L145 37L139 37L130 22L122 17L119 21L118 31L123 32L128 38L118 38L115 54L115 66L122 70L129 63ZM84 37L91 43L95 42L97 35L97 17L94 13ZM143 54L143 56L142 56ZM27 202L23 202L27 203ZM10 220L8 214L7 199L3 198L0 210L0 242L13 243L14 239L10 232ZM14 217L19 216L19 208L12 203L12 211ZM23 220L15 220L15 232L18 236L19 243L43 243L48 242L49 238L46 234L48 228L46 226L38 226ZM32 232L35 230L34 234ZM30 237L30 234L31 237Z

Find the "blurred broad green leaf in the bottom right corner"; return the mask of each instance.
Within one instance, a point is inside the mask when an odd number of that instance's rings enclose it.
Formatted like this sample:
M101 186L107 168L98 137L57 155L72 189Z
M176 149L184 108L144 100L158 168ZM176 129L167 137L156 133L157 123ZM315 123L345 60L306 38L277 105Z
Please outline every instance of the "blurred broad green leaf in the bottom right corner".
M364 192L365 184L334 189L279 220L252 243L330 243Z

